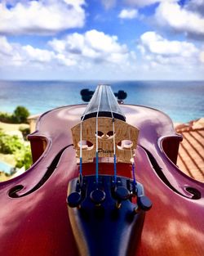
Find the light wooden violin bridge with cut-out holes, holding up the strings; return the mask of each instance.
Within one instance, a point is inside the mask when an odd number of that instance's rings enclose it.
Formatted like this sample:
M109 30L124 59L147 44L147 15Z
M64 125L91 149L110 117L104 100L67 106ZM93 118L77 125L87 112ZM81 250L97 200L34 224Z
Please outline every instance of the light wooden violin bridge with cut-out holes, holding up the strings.
M89 163L95 159L96 150L96 118L86 119L82 122L82 162ZM137 146L139 130L126 122L114 119L115 132L113 134L113 119L98 118L98 154L99 158L113 158L113 136L117 161L131 163L134 149ZM81 124L72 128L73 146L77 159L80 156L80 129Z

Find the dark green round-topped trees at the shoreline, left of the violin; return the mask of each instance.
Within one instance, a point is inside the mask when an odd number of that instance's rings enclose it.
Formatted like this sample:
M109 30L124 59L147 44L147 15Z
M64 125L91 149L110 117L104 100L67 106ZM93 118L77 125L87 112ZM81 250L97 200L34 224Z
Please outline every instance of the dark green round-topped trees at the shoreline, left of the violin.
M8 124L27 123L28 117L29 110L27 110L24 106L17 106L12 115L0 112L0 121Z

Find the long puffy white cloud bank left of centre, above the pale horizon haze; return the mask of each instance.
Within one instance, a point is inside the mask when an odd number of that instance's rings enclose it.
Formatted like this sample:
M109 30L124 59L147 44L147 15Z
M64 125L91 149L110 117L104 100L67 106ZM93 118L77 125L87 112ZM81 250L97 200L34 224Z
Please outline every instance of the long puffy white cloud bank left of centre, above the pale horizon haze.
M63 39L54 38L48 45L49 50L31 45L9 43L5 36L0 36L0 63L5 66L21 66L25 69L48 69L60 66L75 66L76 69L94 68L101 64L126 66L135 61L133 52L124 44L118 43L116 36L110 36L97 30L85 34L73 33Z

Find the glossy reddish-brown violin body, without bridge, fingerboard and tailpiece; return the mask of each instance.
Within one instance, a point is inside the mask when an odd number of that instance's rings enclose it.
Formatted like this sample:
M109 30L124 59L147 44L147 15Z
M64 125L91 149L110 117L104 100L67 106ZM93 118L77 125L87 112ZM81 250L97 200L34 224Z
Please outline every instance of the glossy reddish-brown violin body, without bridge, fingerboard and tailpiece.
M89 255L86 249L83 253L82 234L78 233L76 240L70 219L78 209L69 209L66 202L68 187L78 179L71 128L78 124L85 108L64 106L42 115L36 132L29 136L34 164L20 177L0 183L0 255ZM175 133L171 119L158 110L132 105L121 108L126 122L140 129L135 175L153 208L145 220L141 211L136 217L141 222L130 232L121 228L118 234L117 225L107 225L98 232L115 241L118 255L202 256L204 187L176 166L182 138ZM93 175L94 169L93 164L86 164L85 173ZM100 169L108 175L111 164L101 164ZM118 164L118 176L132 178L130 164ZM94 243L92 238L88 243ZM107 246L103 254L113 255L111 250Z

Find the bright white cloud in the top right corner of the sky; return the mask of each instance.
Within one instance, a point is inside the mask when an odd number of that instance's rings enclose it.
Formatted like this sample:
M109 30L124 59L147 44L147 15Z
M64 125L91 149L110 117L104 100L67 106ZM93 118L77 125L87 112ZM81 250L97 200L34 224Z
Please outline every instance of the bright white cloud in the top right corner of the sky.
M155 19L163 28L171 28L191 36L204 36L204 18L196 11L180 7L176 2L162 2L156 10Z

